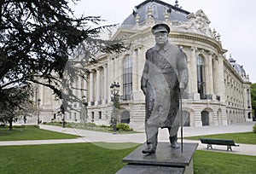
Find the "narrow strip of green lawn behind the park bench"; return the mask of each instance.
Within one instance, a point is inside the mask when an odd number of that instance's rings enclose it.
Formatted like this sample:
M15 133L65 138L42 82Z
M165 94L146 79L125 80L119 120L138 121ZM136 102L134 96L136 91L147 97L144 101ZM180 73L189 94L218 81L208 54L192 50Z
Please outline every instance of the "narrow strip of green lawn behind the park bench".
M190 140L199 140L199 138L218 138L218 139L229 139L234 140L236 143L243 144L256 144L256 134L252 132L242 133L229 133L229 134L215 134L207 136L188 136L184 137Z

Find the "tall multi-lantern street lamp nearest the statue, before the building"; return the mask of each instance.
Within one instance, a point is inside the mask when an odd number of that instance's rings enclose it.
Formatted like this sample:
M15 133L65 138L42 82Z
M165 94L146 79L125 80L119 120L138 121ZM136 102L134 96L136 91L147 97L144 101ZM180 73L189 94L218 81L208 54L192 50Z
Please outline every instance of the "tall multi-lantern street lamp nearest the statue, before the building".
M113 134L116 134L116 124L119 116L119 83L113 82L110 85L110 92L113 95L113 113L112 113L112 123L113 123Z

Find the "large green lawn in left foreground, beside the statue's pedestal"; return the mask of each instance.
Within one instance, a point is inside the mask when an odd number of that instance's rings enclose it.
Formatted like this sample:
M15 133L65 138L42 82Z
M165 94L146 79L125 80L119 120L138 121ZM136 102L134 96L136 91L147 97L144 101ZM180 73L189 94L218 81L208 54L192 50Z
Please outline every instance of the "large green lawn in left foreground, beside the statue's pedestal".
M134 147L134 144L132 144ZM109 143L116 148L124 143ZM111 174L134 148L101 148L91 143L0 147L0 173Z

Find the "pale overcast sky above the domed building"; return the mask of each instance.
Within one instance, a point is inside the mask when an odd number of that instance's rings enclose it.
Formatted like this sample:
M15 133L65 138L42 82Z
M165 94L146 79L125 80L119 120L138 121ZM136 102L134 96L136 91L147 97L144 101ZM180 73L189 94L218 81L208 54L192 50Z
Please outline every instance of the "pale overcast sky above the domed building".
M107 24L121 24L132 9L144 0L81 0L73 6L76 14L101 16ZM175 5L175 0L162 0ZM182 9L191 13L202 9L210 27L221 35L227 57L232 57L256 83L256 1L255 0L179 0ZM255 52L254 52L255 51Z

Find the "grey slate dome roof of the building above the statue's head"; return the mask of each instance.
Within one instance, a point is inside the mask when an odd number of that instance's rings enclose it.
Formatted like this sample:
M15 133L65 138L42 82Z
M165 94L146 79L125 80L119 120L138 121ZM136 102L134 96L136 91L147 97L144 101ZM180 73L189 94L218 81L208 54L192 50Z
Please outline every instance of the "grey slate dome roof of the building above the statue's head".
M151 10L151 17L156 21L166 20L165 13L169 14L170 21L188 21L188 11L178 8L178 5L172 6L160 0L146 0L135 7L133 13L130 14L122 23L122 28L132 28L137 24L142 24L148 19L148 11Z

